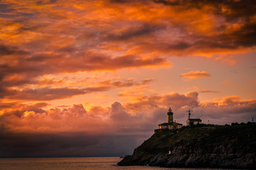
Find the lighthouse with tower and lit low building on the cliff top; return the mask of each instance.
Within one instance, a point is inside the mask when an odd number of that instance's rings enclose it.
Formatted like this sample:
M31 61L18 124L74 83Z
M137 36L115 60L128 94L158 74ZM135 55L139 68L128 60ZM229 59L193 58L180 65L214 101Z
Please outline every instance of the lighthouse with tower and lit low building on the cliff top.
M174 121L174 113L171 111L171 108L169 108L169 112L167 113L167 123L161 123L159 125L159 128L154 131L156 133L162 130L180 129L181 127L182 127L181 123L176 123L176 121Z

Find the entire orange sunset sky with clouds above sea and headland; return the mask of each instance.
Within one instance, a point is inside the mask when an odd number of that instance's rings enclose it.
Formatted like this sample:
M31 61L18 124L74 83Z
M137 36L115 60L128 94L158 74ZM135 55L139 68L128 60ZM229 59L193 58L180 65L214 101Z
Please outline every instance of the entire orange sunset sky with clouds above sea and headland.
M167 121L256 120L254 0L0 0L0 157L132 154ZM4 147L3 147L4 146Z

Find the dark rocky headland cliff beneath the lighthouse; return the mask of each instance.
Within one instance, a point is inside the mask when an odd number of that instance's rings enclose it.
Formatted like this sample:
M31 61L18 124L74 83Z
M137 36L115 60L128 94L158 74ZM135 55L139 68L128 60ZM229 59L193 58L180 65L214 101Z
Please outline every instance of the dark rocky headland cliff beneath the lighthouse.
M118 165L256 169L255 153L256 123L201 125L158 132Z

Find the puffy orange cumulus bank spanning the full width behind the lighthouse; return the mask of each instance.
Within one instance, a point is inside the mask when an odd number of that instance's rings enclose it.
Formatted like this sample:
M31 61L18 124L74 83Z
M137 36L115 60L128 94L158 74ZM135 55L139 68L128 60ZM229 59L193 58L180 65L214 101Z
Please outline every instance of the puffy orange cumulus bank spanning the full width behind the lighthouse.
M176 119L185 121L186 109L206 120L214 118L216 123L230 123L233 116L245 121L255 111L255 100L242 101L239 96L227 96L220 102L198 101L197 92L183 94L154 95L134 103L114 102L109 108L92 106L88 111L82 104L68 108L42 109L47 103L21 105L1 104L2 125L11 132L86 132L93 134L119 134L151 132L166 119L166 110L171 107ZM242 116L242 117L241 117ZM227 122L222 118L228 118ZM92 128L97 127L97 128Z

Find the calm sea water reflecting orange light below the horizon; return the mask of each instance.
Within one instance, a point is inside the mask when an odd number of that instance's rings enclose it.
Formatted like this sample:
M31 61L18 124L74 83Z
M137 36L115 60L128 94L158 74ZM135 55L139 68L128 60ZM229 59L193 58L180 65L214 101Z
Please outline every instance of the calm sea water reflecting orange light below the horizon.
M7 158L0 159L2 170L167 170L167 168L150 166L117 166L118 157L79 157L79 158ZM170 170L170 169L168 169ZM182 169L172 169L182 170ZM188 170L188 169L186 169Z

